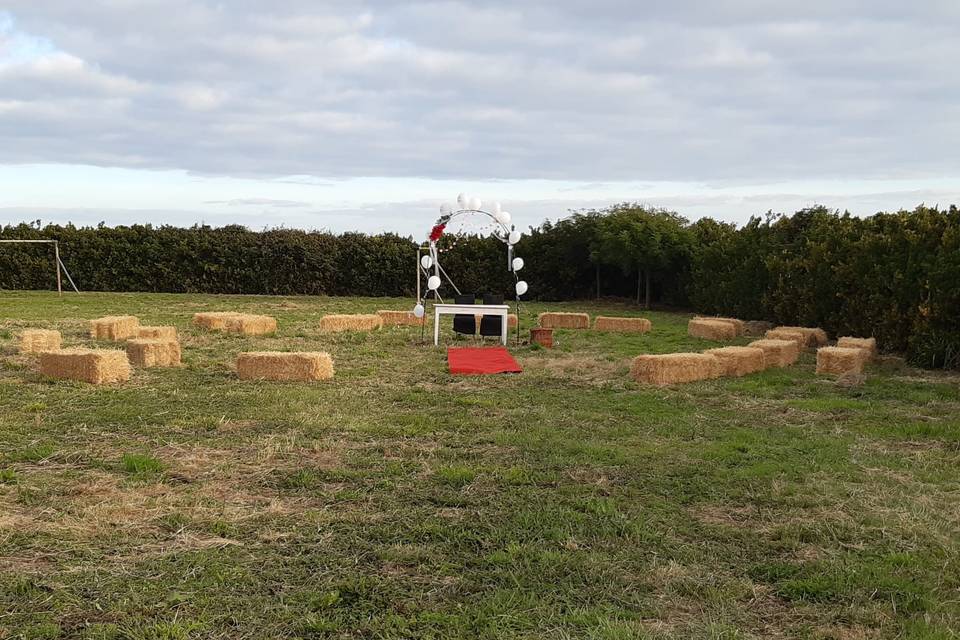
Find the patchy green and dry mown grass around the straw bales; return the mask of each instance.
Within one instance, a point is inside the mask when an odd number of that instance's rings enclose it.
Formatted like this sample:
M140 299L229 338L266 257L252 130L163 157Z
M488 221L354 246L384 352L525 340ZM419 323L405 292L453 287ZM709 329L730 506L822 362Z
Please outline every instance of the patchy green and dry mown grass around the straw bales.
M410 306L0 292L0 638L960 634L958 377L886 362L844 387L805 354L639 387L631 356L715 344L590 302L523 323L654 330L558 331L488 377L448 375L419 329L317 330ZM280 329L203 332L203 310ZM20 328L91 344L86 320L121 313L177 325L184 366L92 387L15 352ZM329 351L336 377L236 378L273 349Z

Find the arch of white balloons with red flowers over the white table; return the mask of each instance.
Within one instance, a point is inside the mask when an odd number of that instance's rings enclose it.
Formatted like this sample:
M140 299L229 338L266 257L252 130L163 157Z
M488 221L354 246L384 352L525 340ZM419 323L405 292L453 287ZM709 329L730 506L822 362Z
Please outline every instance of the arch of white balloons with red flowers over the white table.
M494 222L493 233L509 247L509 255L513 255L513 247L520 242L520 239L523 237L511 224L513 216L510 215L509 211L504 211L499 202L494 202L489 210L487 210L483 208L483 201L480 200L480 198L461 193L457 196L456 205L449 203L440 205L440 217L430 229L430 233L427 236L430 253L420 258L420 266L425 273L430 273L430 270L433 270L433 273L427 278L428 290L437 291L442 284L440 280L440 263L438 261L441 251L437 248L437 242L443 236L443 232L451 219L468 213L479 213L488 216ZM520 296L526 294L528 290L527 283L524 280L520 280L519 276L516 275L521 269L523 269L523 258L513 258L510 261L510 271L513 272L514 277L517 279L515 291L518 301ZM423 317L423 300L417 301L417 305L413 308L413 314L417 318Z

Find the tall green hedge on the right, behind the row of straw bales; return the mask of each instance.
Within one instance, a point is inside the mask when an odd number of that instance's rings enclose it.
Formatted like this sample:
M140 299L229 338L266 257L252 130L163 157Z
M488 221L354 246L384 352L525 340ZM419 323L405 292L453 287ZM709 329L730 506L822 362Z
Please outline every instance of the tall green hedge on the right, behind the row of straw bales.
M960 211L868 218L822 207L700 220L687 294L701 312L875 336L922 366L960 368Z

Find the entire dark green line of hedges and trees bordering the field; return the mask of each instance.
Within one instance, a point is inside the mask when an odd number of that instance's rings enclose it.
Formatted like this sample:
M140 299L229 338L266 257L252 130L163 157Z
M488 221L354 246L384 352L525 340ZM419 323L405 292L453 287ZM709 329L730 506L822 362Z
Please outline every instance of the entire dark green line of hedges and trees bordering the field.
M241 226L0 228L56 239L81 290L408 296L413 238ZM456 247L452 243L456 241ZM465 291L512 291L503 244L444 237ZM700 313L875 336L926 367L960 368L960 212L926 206L858 218L813 207L742 227L624 203L530 229L517 245L527 297L618 297ZM0 247L0 288L49 289L43 245ZM510 297L508 295L508 297Z

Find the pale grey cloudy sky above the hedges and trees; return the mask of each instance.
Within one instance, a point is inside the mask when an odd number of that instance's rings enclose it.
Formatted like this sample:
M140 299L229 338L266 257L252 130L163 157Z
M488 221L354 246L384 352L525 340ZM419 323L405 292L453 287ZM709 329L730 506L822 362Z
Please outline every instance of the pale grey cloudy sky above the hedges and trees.
M956 0L8 0L0 223L960 203Z

